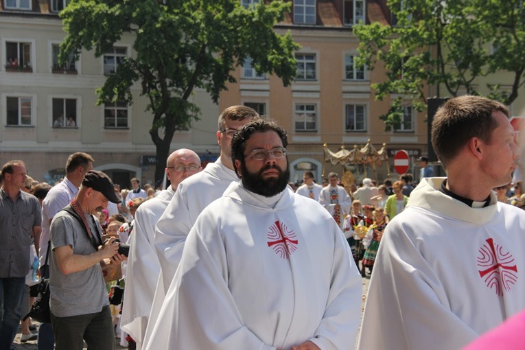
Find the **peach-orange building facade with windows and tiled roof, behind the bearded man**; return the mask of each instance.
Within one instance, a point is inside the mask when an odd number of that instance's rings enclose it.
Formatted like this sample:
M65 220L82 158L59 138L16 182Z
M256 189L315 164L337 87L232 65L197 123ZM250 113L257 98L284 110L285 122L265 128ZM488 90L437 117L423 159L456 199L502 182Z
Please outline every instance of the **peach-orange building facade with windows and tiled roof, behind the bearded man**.
M255 1L257 2L257 1ZM347 166L356 180L365 174L383 180L397 178L393 170L396 150L407 150L412 161L428 152L425 113L417 113L406 100L399 130L385 132L379 119L390 106L391 96L376 101L371 83L386 76L382 67L369 71L355 65L358 40L352 27L366 23L390 23L385 1L290 0L292 11L277 25L281 33L290 31L301 49L296 53L296 80L284 87L271 75L257 75L250 60L237 69L237 84L221 95L220 109L246 104L275 119L288 131L288 158L292 180L298 182L305 171L314 172L316 181L341 165L325 162L323 145L336 152L341 146L362 148L369 140L377 150L386 143L390 161L372 167ZM243 1L245 5L254 0ZM391 173L391 174L390 174Z

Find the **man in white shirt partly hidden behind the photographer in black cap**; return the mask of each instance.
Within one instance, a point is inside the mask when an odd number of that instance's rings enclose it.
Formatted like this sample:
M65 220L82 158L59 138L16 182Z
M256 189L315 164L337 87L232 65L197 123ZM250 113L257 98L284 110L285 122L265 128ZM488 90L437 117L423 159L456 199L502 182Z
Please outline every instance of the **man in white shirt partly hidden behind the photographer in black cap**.
M49 242L49 226L58 211L69 205L78 193L84 175L93 169L95 160L84 152L75 152L67 158L66 177L49 190L42 204L42 234L40 235L40 274L49 278L49 261L44 264ZM38 349L53 350L55 345L50 323L38 328Z

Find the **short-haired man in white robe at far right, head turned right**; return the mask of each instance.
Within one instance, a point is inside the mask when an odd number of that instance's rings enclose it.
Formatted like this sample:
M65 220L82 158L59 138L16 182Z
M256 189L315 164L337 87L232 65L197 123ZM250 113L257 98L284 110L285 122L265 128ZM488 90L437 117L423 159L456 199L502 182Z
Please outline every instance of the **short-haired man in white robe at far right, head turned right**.
M525 309L525 211L498 202L519 151L509 110L446 102L432 144L447 178L424 178L386 226L358 349L462 349Z

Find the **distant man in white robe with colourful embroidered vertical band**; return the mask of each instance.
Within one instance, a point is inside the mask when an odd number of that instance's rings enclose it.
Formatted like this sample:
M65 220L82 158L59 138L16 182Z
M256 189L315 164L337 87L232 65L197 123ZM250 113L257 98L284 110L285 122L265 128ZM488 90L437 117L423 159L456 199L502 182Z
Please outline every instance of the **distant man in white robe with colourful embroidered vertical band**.
M350 213L352 198L348 195L345 187L337 184L338 180L339 177L336 172L328 174L329 185L321 189L319 202L332 215L339 227L342 227L345 216Z

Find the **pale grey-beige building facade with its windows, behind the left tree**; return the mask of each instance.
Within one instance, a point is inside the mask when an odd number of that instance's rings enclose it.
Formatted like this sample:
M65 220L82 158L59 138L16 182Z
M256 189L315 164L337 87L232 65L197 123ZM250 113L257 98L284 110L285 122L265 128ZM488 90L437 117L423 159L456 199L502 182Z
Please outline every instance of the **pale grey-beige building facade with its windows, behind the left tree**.
M132 38L104 56L82 51L78 60L58 64L65 33L58 12L67 0L0 0L0 163L21 159L30 176L54 183L65 175L67 156L87 152L95 168L123 187L130 178L154 180L155 147L149 130L152 115L147 100L134 86L134 103L97 106L95 89L124 57L134 55ZM172 149L191 148L205 161L219 149L219 107L204 91L193 100L200 121L177 132Z

